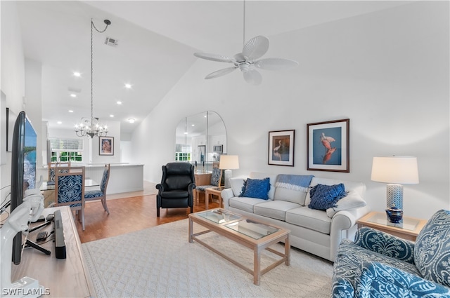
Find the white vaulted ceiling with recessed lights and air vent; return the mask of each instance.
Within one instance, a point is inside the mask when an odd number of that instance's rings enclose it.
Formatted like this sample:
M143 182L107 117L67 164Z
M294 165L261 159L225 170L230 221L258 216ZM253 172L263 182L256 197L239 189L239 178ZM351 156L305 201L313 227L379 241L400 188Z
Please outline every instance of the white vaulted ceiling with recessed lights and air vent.
M270 39L409 2L246 1L245 39L257 35ZM42 118L51 128L72 128L82 116L90 117L91 18L99 30L105 27L103 20L112 22L103 34L94 29L94 117L120 121L122 133L130 133L181 79L198 59L194 52L234 55L243 46L243 1L18 1L17 5L25 57L42 64ZM106 36L119 45L105 45ZM211 72L220 68L214 63ZM74 71L82 77L72 76ZM131 83L131 90L124 83ZM70 97L69 88L81 90L77 98ZM117 105L117 100L123 104ZM127 123L128 118L136 123Z

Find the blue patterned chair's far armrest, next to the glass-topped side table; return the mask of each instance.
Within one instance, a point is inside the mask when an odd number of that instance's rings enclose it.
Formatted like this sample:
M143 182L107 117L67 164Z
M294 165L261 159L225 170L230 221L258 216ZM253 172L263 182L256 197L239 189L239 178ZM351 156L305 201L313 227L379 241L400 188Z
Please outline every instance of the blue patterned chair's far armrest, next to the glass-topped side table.
M414 264L414 243L383 231L364 226L356 231L354 243L366 250Z

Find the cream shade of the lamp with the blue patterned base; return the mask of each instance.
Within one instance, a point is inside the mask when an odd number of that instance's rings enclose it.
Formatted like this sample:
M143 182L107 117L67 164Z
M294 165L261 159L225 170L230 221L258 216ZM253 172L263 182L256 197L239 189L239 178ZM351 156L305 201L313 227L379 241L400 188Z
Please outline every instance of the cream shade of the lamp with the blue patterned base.
M392 184L418 184L417 158L414 156L374 157L371 180Z

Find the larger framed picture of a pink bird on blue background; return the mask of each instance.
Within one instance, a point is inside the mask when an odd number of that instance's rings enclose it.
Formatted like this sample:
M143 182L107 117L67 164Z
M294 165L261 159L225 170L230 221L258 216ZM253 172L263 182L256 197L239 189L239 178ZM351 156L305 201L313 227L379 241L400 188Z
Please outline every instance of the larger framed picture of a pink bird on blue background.
M307 124L307 170L350 172L350 119Z

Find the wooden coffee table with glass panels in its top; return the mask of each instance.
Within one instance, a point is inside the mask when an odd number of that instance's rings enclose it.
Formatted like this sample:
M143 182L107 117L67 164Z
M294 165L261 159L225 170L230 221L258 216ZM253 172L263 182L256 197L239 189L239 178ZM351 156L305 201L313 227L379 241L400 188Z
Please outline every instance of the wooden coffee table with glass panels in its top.
M204 226L207 230L199 233L193 233L194 222ZM251 248L254 255L253 269L236 262L231 257L225 255L198 238L198 236L209 232L218 233L221 236L240 243L247 248ZM189 215L189 242L193 243L194 240L197 241L206 248L209 248L213 252L217 253L217 255L224 257L229 260L229 262L252 274L253 283L255 283L255 285L259 285L259 280L262 274L274 269L279 264L284 262L286 266L290 265L289 233L289 230L282 229L274 225L264 224L257 220L249 219L221 208L195 212ZM269 248L269 246L280 241L284 241L284 254ZM261 269L261 252L263 250L269 250L269 252L280 256L281 259L278 259L273 264Z

